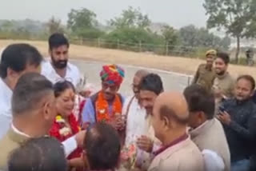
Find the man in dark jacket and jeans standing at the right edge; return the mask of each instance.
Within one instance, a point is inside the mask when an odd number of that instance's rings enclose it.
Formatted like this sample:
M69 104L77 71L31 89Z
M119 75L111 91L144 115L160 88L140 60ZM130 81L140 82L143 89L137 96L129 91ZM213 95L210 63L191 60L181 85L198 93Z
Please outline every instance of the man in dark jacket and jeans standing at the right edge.
M254 78L242 75L237 79L234 98L222 102L218 110L230 147L232 171L246 171L254 165L249 161L256 137L256 105L251 100L254 88Z

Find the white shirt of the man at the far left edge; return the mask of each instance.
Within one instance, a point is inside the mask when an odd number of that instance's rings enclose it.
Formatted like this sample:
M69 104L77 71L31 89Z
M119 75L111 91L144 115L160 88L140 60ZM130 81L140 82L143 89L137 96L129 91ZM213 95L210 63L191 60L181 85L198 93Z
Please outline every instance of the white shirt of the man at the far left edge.
M0 78L0 139L7 133L12 120L11 97L12 90Z

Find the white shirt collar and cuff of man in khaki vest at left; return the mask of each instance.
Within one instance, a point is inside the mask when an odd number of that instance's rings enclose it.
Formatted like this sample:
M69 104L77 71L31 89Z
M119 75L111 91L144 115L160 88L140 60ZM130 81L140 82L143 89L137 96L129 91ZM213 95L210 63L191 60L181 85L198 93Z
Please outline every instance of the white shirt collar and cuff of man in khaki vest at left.
M26 133L22 133L20 130L18 130L13 124L11 124L11 129L13 129L15 133L18 133L24 137L30 137ZM66 139L66 141L63 141L62 145L64 147L66 157L70 155L70 153L72 153L74 149L78 148L77 141L75 141L74 136Z

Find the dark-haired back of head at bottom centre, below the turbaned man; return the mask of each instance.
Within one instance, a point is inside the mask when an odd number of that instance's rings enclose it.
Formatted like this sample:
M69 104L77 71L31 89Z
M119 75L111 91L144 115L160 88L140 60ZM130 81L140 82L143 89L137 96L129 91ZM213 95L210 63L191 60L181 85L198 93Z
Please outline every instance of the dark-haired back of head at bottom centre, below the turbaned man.
M114 169L118 165L121 142L111 125L99 122L87 130L84 149L91 170Z

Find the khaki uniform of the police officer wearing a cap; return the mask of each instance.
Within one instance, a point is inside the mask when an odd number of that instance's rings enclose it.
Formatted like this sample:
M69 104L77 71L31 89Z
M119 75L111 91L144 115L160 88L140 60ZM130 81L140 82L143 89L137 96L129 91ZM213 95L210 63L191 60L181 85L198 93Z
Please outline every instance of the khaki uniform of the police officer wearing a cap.
M206 68L206 64L201 64L198 66L198 70L194 75L193 84L202 85L210 91L212 85L214 84L215 72L213 69L209 70Z

